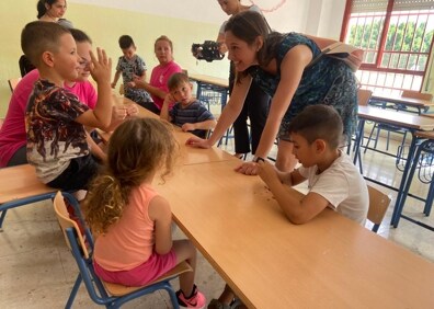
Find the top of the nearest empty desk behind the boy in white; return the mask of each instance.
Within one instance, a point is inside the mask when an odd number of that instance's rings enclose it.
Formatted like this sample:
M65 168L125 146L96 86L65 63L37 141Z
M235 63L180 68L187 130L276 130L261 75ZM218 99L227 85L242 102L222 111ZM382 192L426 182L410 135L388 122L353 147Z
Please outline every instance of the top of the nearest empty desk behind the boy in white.
M416 130L434 129L434 119L421 115L400 113L375 106L358 106L358 117Z

